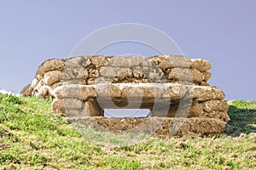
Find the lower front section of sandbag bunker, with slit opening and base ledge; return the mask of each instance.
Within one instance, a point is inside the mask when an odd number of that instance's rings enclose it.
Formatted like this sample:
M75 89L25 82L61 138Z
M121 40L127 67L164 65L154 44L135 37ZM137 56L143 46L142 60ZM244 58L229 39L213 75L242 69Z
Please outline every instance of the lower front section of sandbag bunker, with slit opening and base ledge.
M165 138L211 137L223 133L230 120L224 93L209 86L176 83L163 86L154 83L69 84L55 88L55 95L58 98L52 104L55 111L65 112L76 122L106 133L122 134L125 131L131 135L147 133ZM190 96L193 96L191 101ZM180 102L181 99L185 102ZM110 105L111 102L114 105ZM150 109L152 116L106 118L102 108Z

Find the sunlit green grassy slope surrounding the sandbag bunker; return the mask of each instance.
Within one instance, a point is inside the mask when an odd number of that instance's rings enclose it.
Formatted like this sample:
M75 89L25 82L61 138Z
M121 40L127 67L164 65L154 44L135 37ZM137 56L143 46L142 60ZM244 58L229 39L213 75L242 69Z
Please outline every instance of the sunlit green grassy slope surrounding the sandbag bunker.
M253 169L256 102L229 102L218 137L150 138L122 148L93 144L51 100L0 94L0 169Z

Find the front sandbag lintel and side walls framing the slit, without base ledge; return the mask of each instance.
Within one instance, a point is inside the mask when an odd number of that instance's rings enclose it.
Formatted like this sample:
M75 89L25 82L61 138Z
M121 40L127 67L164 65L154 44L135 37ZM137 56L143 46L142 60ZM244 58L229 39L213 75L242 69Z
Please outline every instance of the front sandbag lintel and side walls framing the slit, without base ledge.
M228 122L229 106L219 88L176 83L66 85L54 90L55 111L68 117L103 116L104 109L149 109L152 116L214 118ZM193 99L190 99L190 97ZM181 102L183 100L183 102ZM113 102L113 104L112 104ZM188 110L188 111L187 111Z

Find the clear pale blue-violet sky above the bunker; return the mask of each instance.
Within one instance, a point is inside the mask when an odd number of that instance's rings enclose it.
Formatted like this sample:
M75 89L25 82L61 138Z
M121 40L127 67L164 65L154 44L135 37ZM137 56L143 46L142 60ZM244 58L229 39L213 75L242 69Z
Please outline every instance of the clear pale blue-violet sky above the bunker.
M164 31L183 54L212 62L226 99L256 99L256 1L1 1L0 88L19 93L45 59L66 58L92 31L138 23ZM157 54L123 44L102 54Z

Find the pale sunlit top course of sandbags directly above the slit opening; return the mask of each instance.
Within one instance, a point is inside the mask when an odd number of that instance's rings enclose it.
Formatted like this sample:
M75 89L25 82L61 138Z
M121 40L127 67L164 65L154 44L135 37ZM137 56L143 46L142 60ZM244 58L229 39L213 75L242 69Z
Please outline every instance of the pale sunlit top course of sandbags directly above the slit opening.
M82 92L82 93L81 93ZM154 100L168 102L170 99L181 99L189 94L195 100L224 99L219 88L185 86L178 83L100 83L96 85L67 85L65 88L56 88L56 98L73 97L77 99L102 98L113 101L115 99L137 100L152 103ZM153 103L152 103L153 105Z

